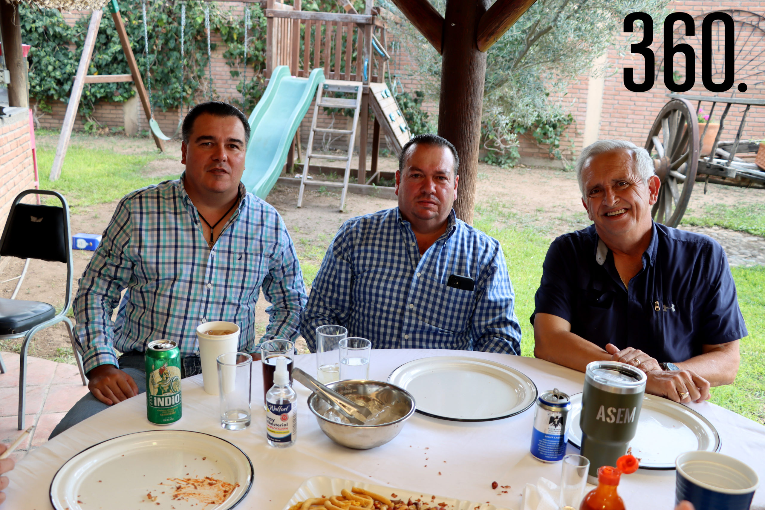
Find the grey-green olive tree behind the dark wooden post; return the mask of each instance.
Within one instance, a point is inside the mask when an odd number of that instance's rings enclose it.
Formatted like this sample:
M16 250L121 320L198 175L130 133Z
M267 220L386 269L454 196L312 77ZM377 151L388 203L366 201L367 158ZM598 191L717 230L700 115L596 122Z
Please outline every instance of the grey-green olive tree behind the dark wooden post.
M444 13L445 0L433 5ZM593 71L593 64L610 47L629 51L640 40L636 27L623 37L623 20L634 11L653 17L661 26L669 0L537 0L513 24L487 55L483 96L483 145L490 162L513 164L518 157L517 135L529 132L558 158L560 137L573 122L566 89ZM422 83L431 99L438 100L441 57L392 2L388 10L391 31L415 61L408 72ZM607 69L594 70L605 73Z

